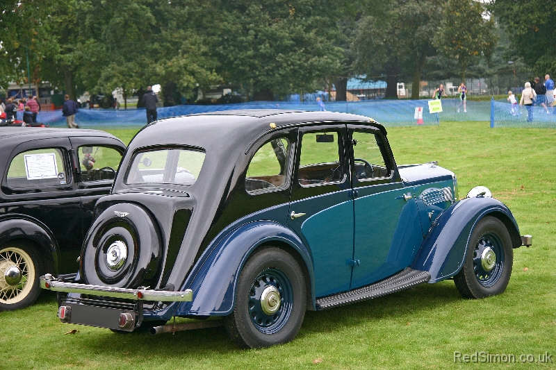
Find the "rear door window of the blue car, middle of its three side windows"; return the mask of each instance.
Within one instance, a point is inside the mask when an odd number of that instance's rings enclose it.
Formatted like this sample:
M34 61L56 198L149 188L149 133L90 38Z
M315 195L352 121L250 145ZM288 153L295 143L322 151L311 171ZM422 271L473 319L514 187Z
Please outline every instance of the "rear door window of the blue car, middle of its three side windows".
M338 183L343 180L338 132L304 133L301 144L300 185Z

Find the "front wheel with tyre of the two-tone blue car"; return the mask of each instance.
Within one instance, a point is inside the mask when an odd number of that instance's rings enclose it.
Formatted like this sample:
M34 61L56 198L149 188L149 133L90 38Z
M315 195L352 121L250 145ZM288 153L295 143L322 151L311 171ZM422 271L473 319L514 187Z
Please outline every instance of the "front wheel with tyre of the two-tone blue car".
M512 274L512 239L502 221L487 216L481 219L467 247L464 266L454 282L464 298L484 298L504 292Z

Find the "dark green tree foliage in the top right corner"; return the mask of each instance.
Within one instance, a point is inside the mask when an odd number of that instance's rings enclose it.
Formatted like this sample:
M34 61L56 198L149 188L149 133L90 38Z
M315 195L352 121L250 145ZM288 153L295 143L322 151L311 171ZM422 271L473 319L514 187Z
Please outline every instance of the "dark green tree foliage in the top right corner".
M536 74L556 74L556 2L496 0L491 9L514 53Z

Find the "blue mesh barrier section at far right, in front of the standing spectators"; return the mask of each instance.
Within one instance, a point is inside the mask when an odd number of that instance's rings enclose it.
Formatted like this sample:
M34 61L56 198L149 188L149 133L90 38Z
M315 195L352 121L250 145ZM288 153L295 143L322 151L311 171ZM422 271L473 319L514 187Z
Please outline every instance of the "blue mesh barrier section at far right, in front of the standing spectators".
M490 103L490 102L489 102ZM528 122L528 109L525 106L517 106L512 110L512 104L507 101L492 101L493 127L547 127L556 128L556 108L542 106L532 107L532 121Z

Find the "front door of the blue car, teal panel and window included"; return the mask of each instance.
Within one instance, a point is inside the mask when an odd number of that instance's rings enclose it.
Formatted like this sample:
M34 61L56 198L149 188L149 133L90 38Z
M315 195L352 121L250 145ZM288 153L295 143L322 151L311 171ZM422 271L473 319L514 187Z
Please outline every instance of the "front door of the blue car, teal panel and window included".
M385 135L359 126L348 126L348 135L354 190L354 289L408 267L423 233L413 189L404 187Z

